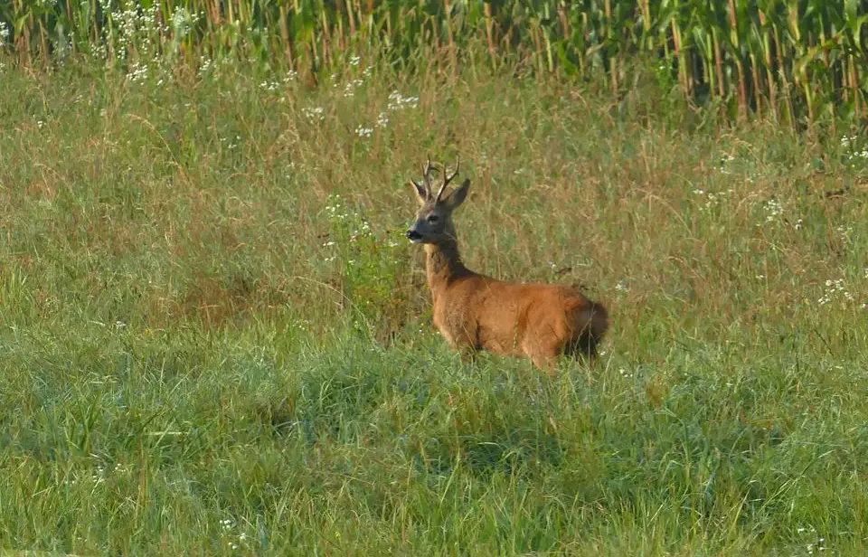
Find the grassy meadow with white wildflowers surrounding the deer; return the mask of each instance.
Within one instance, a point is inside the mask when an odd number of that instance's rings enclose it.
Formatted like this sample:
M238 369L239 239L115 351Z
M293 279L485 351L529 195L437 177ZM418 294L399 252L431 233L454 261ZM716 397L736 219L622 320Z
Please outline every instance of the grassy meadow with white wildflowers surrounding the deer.
M145 68L142 70L141 68ZM352 59L0 69L0 549L868 551L868 137ZM581 283L596 367L460 362L402 233Z

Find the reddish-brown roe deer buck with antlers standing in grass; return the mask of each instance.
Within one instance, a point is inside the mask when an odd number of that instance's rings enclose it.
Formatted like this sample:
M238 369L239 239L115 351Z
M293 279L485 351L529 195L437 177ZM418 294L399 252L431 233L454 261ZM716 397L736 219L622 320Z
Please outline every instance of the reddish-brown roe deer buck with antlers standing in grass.
M458 175L443 168L443 183L431 193L430 159L422 184L410 179L419 198L416 222L407 238L425 244L426 272L437 326L462 359L478 350L496 354L524 354L533 364L553 373L560 354L592 359L608 327L606 309L578 290L552 284L505 282L480 275L461 262L452 212L467 198L470 180L444 196Z

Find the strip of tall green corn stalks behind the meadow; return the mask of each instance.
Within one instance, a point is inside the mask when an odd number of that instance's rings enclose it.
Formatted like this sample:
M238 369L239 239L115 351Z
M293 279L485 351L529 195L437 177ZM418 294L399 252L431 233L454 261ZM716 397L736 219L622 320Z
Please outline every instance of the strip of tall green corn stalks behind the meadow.
M108 64L227 56L316 79L354 52L412 67L519 64L537 75L605 80L618 95L631 64L734 118L792 124L860 118L868 88L855 0L11 0L0 45L26 65L68 56Z

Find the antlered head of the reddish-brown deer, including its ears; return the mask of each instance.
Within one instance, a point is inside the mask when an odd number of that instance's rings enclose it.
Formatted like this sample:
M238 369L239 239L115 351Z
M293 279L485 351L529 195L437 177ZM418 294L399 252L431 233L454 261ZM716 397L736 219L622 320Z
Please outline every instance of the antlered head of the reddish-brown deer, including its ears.
M467 178L448 195L444 196L446 187L458 175L456 160L455 170L451 174L444 167L443 182L440 184L437 195L431 193L431 171L437 168L431 165L428 159L422 169L422 183L410 178L410 184L416 192L420 208L416 213L416 222L407 231L407 238L414 243L438 243L440 241L455 240L455 228L452 226L452 212L467 198L467 190L470 189L470 180Z

